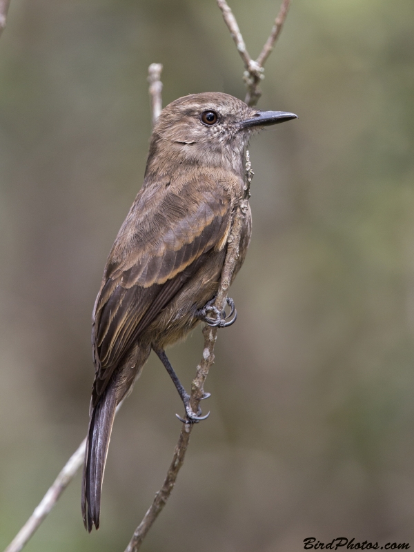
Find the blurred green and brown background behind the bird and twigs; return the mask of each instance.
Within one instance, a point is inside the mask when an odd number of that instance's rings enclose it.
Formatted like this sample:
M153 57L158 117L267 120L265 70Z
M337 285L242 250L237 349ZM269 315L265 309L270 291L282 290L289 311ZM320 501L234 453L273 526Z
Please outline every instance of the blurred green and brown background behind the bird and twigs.
M257 56L279 2L233 0ZM293 0L259 107L297 121L250 147L253 239L170 502L143 552L414 546L412 0ZM0 40L0 546L86 434L90 315L141 186L147 68L164 105L244 98L215 0L12 0ZM186 387L199 330L170 351ZM208 404L207 404L208 403ZM80 476L28 552L123 551L182 406L150 358L115 422L101 529Z

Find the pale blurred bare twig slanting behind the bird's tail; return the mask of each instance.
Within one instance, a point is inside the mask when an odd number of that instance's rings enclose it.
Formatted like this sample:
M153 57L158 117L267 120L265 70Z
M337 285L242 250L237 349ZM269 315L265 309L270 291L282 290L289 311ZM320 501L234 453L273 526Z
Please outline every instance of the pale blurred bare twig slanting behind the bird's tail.
M34 531L36 531L53 506L55 506L61 493L63 493L83 464L83 458L85 457L85 444L86 439L83 439L77 451L72 454L68 462L66 462L66 466L64 466L61 473L59 473L46 495L44 495L39 506L37 506L26 524L23 525L19 533L17 533L4 552L19 552L23 549L23 546L25 546L28 540L32 537Z

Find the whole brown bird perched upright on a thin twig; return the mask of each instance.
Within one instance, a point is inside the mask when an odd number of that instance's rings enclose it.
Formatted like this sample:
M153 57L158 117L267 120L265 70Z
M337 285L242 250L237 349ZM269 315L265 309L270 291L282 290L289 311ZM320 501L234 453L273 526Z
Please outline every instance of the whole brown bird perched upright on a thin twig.
M92 313L95 381L83 470L83 522L99 529L101 486L115 408L132 390L151 349L192 411L164 348L208 315L224 264L231 215L244 187L244 157L253 130L294 119L259 111L219 92L179 98L152 132L144 184L112 246ZM250 241L250 211L235 274ZM229 301L232 306L231 300ZM232 306L233 315L234 306ZM208 394L204 398L206 398Z

